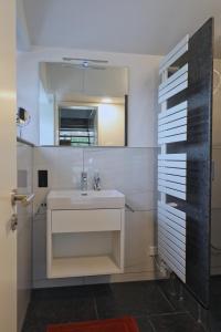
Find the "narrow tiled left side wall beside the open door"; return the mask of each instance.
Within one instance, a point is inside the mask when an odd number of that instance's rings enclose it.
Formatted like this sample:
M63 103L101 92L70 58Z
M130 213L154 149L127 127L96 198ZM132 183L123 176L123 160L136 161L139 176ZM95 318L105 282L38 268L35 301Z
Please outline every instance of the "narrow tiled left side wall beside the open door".
M31 194L33 173L32 147L22 143L17 144L18 191ZM31 239L32 239L32 206L23 207L18 204L18 331L21 330L30 300L32 283Z

